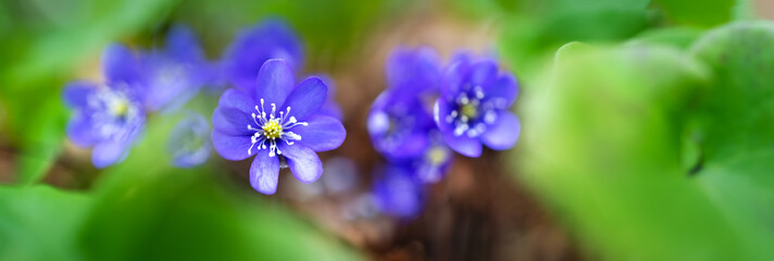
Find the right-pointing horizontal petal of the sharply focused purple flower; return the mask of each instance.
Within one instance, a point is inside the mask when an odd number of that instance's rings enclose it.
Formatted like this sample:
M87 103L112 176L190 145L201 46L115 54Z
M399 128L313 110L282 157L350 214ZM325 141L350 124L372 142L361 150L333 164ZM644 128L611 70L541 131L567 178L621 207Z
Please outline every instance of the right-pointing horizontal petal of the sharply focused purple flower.
M302 144L314 151L328 151L338 148L347 137L347 130L341 122L325 115L315 115L305 121L308 126L297 126L290 129L301 136Z

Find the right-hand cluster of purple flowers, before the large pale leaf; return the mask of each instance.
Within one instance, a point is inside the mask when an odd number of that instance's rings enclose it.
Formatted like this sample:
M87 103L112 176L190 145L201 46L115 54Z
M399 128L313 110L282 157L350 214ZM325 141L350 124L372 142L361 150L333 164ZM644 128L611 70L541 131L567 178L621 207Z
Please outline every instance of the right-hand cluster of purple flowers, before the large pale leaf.
M374 101L369 133L389 162L377 174L374 194L386 213L413 216L421 209L422 184L440 181L453 151L478 157L482 144L495 150L514 146L519 120L508 108L516 82L488 59L455 55L441 69L430 48L396 49L387 60L388 87Z

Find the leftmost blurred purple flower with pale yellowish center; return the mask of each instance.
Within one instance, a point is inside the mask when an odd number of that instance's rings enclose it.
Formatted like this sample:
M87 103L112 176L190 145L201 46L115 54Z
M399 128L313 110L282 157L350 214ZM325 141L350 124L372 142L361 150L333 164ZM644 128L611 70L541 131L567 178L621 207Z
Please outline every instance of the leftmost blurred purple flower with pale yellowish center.
M105 167L122 161L146 123L141 76L135 54L112 45L102 54L105 82L72 82L64 87L64 102L73 110L67 137L79 147L93 147L91 161Z

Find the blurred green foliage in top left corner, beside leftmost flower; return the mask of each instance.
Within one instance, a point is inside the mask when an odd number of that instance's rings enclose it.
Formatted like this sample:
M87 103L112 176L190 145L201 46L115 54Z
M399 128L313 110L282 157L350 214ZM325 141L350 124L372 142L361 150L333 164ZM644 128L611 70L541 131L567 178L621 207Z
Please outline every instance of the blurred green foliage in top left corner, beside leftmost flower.
M0 3L0 100L9 112L0 130L21 153L17 182L39 181L64 141L68 115L60 89L109 41L163 20L176 1L11 1ZM2 11L0 11L2 13Z

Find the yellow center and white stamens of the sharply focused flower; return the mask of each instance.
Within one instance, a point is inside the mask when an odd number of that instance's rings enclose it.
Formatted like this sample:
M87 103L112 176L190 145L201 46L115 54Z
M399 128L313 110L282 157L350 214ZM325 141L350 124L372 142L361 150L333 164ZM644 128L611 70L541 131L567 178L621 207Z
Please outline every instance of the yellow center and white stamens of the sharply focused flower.
M255 127L251 124L247 125L247 129L253 132L247 153L252 154L252 148L254 147L258 150L269 149L269 157L275 157L283 153L277 147L277 142L285 141L287 145L294 145L295 141L301 140L301 135L295 134L290 129L297 126L308 126L309 124L299 122L295 116L290 116L290 107L285 111L279 111L277 115L277 104L272 103L272 111L269 113L263 105L264 101L261 99L261 107L255 105L255 113L251 114Z

